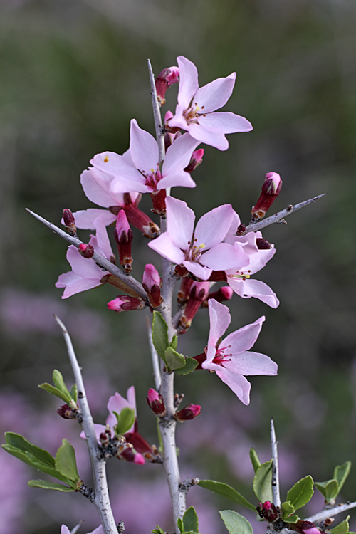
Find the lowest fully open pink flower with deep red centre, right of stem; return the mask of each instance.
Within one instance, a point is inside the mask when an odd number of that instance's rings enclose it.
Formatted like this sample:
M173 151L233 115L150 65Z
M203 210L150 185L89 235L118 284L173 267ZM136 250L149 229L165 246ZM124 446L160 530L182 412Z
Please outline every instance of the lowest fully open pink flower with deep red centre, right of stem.
M276 375L278 369L270 357L248 351L256 342L265 318L260 317L255 323L239 328L219 342L231 323L229 308L212 298L209 300L209 316L206 360L201 363L201 367L216 371L216 375L232 389L241 402L249 404L251 384L245 375Z

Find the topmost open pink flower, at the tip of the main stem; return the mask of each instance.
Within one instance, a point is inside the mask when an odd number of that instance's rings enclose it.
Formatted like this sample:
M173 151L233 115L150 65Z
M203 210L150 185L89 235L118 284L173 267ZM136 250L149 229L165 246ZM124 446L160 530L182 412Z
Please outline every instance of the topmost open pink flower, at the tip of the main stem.
M227 78L217 78L199 88L197 67L184 58L177 58L179 66L178 105L174 117L168 121L168 127L187 130L194 139L206 145L227 150L229 142L225 134L249 132L251 123L244 117L231 112L217 112L229 100L234 89L236 73Z

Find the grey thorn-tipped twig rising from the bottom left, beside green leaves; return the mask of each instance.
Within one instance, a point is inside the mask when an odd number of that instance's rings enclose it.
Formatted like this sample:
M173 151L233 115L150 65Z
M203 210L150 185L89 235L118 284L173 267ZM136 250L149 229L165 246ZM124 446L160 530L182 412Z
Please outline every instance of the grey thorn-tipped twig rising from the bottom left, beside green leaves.
M93 423L93 417L90 413L90 408L88 404L88 399L85 394L85 387L83 383L82 373L78 364L77 357L73 349L72 341L70 340L70 335L65 325L62 321L55 315L58 325L61 327L64 340L66 341L68 356L70 360L70 365L73 369L73 375L75 378L75 383L78 387L78 403L80 409L83 413L83 430L85 433L85 438L87 440L90 463L93 471L94 479L94 489L95 489L95 499L93 503L95 504L96 509L100 515L100 520L103 525L103 530L105 534L117 534L116 523L114 515L112 514L109 492L108 492L108 483L106 480L106 471L105 471L105 460L99 459L99 447L98 441L95 436L95 428Z

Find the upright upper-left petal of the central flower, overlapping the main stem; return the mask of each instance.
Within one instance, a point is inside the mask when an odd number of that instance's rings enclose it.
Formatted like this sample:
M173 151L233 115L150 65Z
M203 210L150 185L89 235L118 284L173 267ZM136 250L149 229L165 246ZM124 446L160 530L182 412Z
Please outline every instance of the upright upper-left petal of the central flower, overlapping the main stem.
M185 251L192 241L195 214L186 202L167 197L167 231L174 245ZM183 260L181 260L182 262Z

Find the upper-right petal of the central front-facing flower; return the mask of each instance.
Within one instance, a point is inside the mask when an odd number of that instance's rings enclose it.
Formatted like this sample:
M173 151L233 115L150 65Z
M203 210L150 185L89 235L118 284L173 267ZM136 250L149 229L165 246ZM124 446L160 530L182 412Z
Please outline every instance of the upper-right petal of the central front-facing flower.
M199 219L194 232L194 238L197 239L197 246L204 244L205 248L211 248L221 243L231 226L233 217L234 210L231 204L224 204L203 215Z

